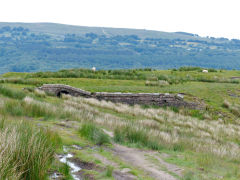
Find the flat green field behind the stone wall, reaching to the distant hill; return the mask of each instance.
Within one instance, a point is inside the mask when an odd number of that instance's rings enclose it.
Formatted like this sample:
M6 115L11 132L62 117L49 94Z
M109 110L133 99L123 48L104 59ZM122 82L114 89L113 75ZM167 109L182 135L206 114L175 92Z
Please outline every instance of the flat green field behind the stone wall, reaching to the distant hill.
M76 78L82 70L66 70L59 73L6 73L5 78L27 78L26 80L36 81L39 86L41 84L66 84L77 87L90 92L132 92L132 93L183 93L185 99L190 101L202 101L207 105L208 110L200 112L200 114L210 113L212 118L222 118L222 114L226 119L235 119L230 109L223 107L224 101L229 101L231 104L238 104L240 98L239 80L236 77L240 76L240 71L216 71L202 73L199 70L193 71L173 71L173 70L158 70L158 71L142 71L136 70L131 74L132 70L124 70L114 74L115 71L101 71L92 73L84 71L84 76L89 78ZM120 73L120 74L119 74ZM94 76L93 76L94 75ZM45 78L37 77L44 76ZM54 78L57 76L58 78ZM61 76L70 76L63 78ZM74 76L75 78L71 78ZM81 73L79 76L82 76ZM134 78L134 80L130 80ZM236 79L232 79L235 77ZM96 79L101 78L101 79ZM111 78L111 79L109 79ZM139 78L139 79L138 79ZM126 80L127 79L127 80ZM159 80L165 79L165 80ZM27 86L32 82L28 82ZM158 82L166 81L168 85L161 85ZM146 84L150 82L150 84ZM23 83L23 82L21 82ZM24 85L15 85L8 83L12 87L24 87Z

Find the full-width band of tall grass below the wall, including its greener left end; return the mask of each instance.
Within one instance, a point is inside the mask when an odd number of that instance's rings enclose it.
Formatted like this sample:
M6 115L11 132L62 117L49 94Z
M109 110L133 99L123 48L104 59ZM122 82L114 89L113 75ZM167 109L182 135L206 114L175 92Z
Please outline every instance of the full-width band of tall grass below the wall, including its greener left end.
M5 102L2 109L6 113L21 116L68 118L87 123L81 127L80 132L95 143L102 144L99 139L104 139L104 136L99 138L96 135L98 132L101 134L97 126L102 126L113 131L118 128L115 134L122 134L118 136L118 141L139 143L151 149L188 149L240 160L239 124L199 120L165 109L143 109L138 105L128 106L69 96L64 97L61 105L29 97L18 103L11 102L9 105ZM89 125L89 122L93 125Z

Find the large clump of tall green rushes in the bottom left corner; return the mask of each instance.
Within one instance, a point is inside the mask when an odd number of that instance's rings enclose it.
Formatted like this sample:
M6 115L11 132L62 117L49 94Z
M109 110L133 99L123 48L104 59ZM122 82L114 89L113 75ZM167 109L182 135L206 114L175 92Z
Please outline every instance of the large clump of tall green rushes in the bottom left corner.
M60 137L21 121L0 130L0 179L43 180Z

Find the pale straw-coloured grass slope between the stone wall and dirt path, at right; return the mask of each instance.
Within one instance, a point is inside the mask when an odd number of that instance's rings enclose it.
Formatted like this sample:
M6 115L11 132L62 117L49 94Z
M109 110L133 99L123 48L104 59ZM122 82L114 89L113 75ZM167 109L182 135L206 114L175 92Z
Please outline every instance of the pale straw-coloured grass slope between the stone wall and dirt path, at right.
M85 111L91 112L94 107L104 108L134 119L134 121L129 121L125 118L109 117L106 113L100 112L95 119L92 119L95 123L113 130L117 127L115 130L117 141L140 143L146 147L150 147L148 141L154 141L159 147L175 151L188 149L240 161L239 124L199 120L169 110L142 109L138 105L128 106L95 99L71 98L71 101L77 102L78 108L84 108ZM84 103L89 104L89 107L85 107ZM71 106L73 103L66 104ZM130 128L126 128L128 126Z

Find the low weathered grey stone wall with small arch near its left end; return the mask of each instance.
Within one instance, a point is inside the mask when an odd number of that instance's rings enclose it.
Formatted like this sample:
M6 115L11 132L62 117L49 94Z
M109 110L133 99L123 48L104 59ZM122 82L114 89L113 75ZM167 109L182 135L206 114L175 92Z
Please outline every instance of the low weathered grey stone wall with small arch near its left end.
M143 104L156 106L174 106L174 107L188 107L191 109L201 109L199 104L194 102L184 101L182 95L168 94L168 93L106 93L96 92L90 93L82 89L74 88L61 84L45 84L39 89L61 96L61 94L70 94L72 96L83 96L86 98L96 98L98 100L106 100L117 103L126 104Z

